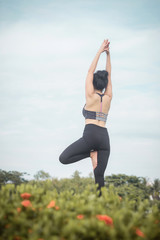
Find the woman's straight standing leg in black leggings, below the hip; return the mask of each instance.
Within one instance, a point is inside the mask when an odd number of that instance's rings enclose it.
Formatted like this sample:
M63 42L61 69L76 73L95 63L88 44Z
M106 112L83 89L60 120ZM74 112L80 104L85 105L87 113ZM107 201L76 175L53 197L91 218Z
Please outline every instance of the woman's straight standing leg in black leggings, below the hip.
M97 155L97 166L94 169L95 184L98 183L97 190L100 190L99 196L102 195L101 187L104 186L104 172L107 167L110 150L99 150Z

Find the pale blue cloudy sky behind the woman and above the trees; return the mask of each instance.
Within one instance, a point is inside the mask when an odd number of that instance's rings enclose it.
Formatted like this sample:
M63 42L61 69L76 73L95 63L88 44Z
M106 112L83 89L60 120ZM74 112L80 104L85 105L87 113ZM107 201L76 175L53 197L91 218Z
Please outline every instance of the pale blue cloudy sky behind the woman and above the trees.
M85 77L110 40L113 99L105 175L160 177L160 2L0 1L0 168L92 172L60 153L82 136ZM104 69L103 53L97 69ZM71 118L72 116L72 118Z

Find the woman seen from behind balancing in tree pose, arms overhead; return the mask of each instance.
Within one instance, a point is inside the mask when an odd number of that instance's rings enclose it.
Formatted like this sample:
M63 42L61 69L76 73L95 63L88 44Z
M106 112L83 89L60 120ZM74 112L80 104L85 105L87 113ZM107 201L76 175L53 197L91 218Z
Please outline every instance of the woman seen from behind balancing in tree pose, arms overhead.
M83 107L85 128L83 136L68 146L60 155L63 164L70 164L91 157L95 184L101 196L104 172L110 155L110 139L105 127L112 100L110 42L104 40L88 70L85 83L86 104ZM106 70L95 72L101 53L106 52ZM95 73L94 73L95 72ZM102 93L104 91L104 93Z

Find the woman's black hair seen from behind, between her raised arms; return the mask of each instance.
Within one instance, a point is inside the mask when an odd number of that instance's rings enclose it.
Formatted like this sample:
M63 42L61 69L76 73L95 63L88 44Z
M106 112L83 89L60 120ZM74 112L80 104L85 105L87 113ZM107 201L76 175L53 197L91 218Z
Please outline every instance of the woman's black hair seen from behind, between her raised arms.
M93 75L93 86L95 89L102 91L108 84L108 72L99 70Z

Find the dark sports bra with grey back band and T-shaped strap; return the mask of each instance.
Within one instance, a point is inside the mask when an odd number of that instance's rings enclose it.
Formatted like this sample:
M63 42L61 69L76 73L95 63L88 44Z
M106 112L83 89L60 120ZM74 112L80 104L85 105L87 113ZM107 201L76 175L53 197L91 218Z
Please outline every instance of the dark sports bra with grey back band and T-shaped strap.
M84 107L83 107L83 110L82 110L82 114L85 117L85 119L96 119L96 120L106 122L108 114L105 114L105 113L102 112L102 97L104 96L104 94L100 94L100 93L97 93L97 94L101 97L101 111L100 112L94 112L94 111L86 110L85 109L86 104L85 104Z

